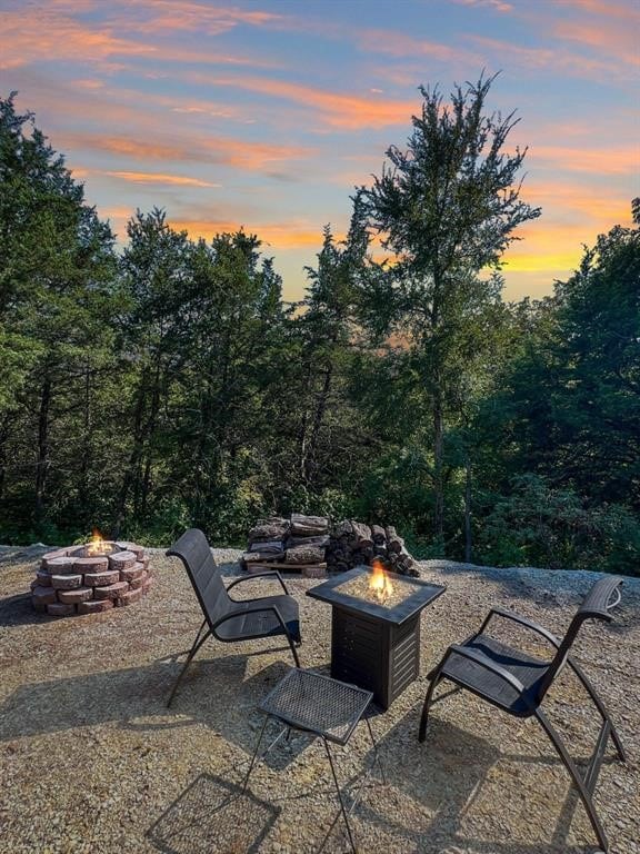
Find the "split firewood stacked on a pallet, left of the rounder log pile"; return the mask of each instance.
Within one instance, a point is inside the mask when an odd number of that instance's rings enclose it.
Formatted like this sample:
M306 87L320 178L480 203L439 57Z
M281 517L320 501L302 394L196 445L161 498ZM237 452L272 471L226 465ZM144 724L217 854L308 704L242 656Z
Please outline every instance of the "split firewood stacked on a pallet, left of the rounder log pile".
M329 545L329 519L292 513L290 519L271 516L259 519L249 532L242 555L246 569L262 569L282 564L282 569L301 569L303 575L324 574L324 552Z

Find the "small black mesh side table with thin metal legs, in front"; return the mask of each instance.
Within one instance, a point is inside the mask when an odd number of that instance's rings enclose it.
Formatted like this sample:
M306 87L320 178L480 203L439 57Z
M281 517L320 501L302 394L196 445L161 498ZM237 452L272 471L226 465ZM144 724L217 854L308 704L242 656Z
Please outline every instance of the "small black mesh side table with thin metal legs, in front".
M354 854L357 854L351 826L349 825L349 815L353 812L360 792L364 785L364 781L373 769L376 762L378 762L378 765L380 766L382 782L384 782L384 769L382 768L382 763L378 755L378 745L373 738L371 724L367 718L364 718L364 723L367 724L371 744L373 745L373 758L360 783L357 796L349 811L347 811L344 806L344 798L342 797L342 792L340 791L340 785L338 783L333 758L329 751L329 742L334 742L342 746L347 744L358 723L362 719L362 715L367 711L372 696L373 694L370 691L363 691L354 685L348 685L344 682L338 682L338 679L332 679L329 676L322 676L318 673L294 668L290 671L278 685L276 685L273 691L264 697L259 706L260 711L264 713L264 723L262 724L258 744L256 745L247 776L244 777L242 786L243 792L247 790L249 776L253 769L256 759L258 758L262 736L264 735L267 722L270 717L283 724L283 728L264 751L261 758L263 758L276 743L280 741L284 733L288 733L290 729L299 729L304 733L317 735L322 738L324 744L329 765L331 766L333 783L336 784L336 792L338 793L340 810L331 822L322 844L318 848L318 854L320 854L327 844L327 840L340 815L342 815L342 818L344 820L351 848Z

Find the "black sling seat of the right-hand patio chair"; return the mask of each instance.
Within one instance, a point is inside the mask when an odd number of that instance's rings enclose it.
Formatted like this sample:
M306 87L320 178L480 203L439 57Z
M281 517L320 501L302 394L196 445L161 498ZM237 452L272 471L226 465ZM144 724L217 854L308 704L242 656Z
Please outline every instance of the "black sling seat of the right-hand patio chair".
M518 717L528 717L536 708L534 698L540 683L549 669L549 662L527 655L501 644L490 635L476 635L463 644L466 649L472 649L483 658L500 665L522 683L524 692L514 687L491 673L477 662L451 653L442 667L442 676L463 685L474 694L479 694L490 703L500 706Z

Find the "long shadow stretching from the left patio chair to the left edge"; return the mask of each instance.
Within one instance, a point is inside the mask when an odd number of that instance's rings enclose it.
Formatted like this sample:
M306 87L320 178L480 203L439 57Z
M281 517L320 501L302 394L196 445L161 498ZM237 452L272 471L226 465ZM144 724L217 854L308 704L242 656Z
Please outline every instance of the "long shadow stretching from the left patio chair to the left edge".
M167 698L181 661L22 685L0 705L0 742L107 723L139 732L203 724L249 757L263 722L258 706L290 669L284 662L272 662L247 678L247 662L264 652L196 659L171 708ZM216 703L213 697L223 699ZM229 714L239 708L246 714ZM306 747L304 739L292 738L286 751L269 754L267 764L281 769Z

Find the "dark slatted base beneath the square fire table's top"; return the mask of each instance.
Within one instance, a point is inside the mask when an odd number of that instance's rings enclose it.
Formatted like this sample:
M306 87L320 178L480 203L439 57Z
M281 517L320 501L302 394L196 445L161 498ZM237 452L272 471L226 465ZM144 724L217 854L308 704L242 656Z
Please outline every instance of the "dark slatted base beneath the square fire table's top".
M333 605L331 676L373 692L389 708L420 671L420 614L400 625Z

